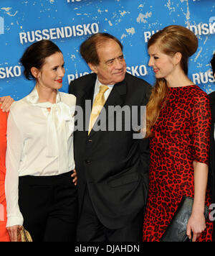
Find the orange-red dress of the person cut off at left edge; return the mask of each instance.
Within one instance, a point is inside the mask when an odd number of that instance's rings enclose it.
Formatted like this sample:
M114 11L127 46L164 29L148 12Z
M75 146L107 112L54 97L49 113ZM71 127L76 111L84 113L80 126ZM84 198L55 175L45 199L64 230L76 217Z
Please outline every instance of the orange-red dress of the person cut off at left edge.
M6 120L7 114L0 109L0 242L9 242L6 230L6 198L4 193L4 180L6 174Z

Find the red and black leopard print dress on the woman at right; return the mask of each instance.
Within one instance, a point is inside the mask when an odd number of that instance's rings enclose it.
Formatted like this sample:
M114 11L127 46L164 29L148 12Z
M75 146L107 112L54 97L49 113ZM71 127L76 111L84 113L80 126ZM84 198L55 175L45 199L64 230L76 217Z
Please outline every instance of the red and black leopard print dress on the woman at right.
M181 201L194 198L196 160L208 164L211 110L209 99L198 86L169 89L152 131L148 203L143 224L143 242L159 242ZM206 204L210 204L209 191ZM198 241L212 241L213 223Z

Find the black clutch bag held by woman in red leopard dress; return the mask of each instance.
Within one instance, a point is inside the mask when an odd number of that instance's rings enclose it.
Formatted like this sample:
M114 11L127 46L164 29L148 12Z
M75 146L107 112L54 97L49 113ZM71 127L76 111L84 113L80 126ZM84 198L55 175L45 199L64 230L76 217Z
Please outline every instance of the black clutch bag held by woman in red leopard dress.
M176 214L161 238L161 242L190 242L186 235L186 227L192 213L193 204L194 198L183 196ZM209 216L207 206L205 206L204 216L206 219Z

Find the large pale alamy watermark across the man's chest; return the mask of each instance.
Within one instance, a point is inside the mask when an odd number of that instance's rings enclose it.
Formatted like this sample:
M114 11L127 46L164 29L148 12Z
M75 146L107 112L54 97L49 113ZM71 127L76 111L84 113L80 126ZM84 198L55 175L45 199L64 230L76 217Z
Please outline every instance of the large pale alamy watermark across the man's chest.
M97 106L92 110L91 106L91 101L87 100L85 110L75 107L74 131L88 131L90 114L95 114L97 119L92 127L95 132L133 132L133 139L145 137L146 106Z

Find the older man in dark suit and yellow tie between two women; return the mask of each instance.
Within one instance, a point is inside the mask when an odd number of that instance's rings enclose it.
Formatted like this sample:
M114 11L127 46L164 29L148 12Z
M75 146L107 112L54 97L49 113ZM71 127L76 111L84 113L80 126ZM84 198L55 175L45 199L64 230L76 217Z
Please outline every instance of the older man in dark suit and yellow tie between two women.
M136 106L140 122L140 108L148 103L151 86L126 73L123 45L112 35L92 35L80 52L93 73L71 82L69 88L87 116L87 129L74 134L80 203L77 241L137 242L142 239L148 192L148 140L136 140L138 132L126 128L126 114L121 120L118 114L123 106ZM92 102L91 113L86 101ZM115 107L114 114L108 112L110 106ZM97 129L104 121L114 128ZM115 127L117 122L122 129Z

